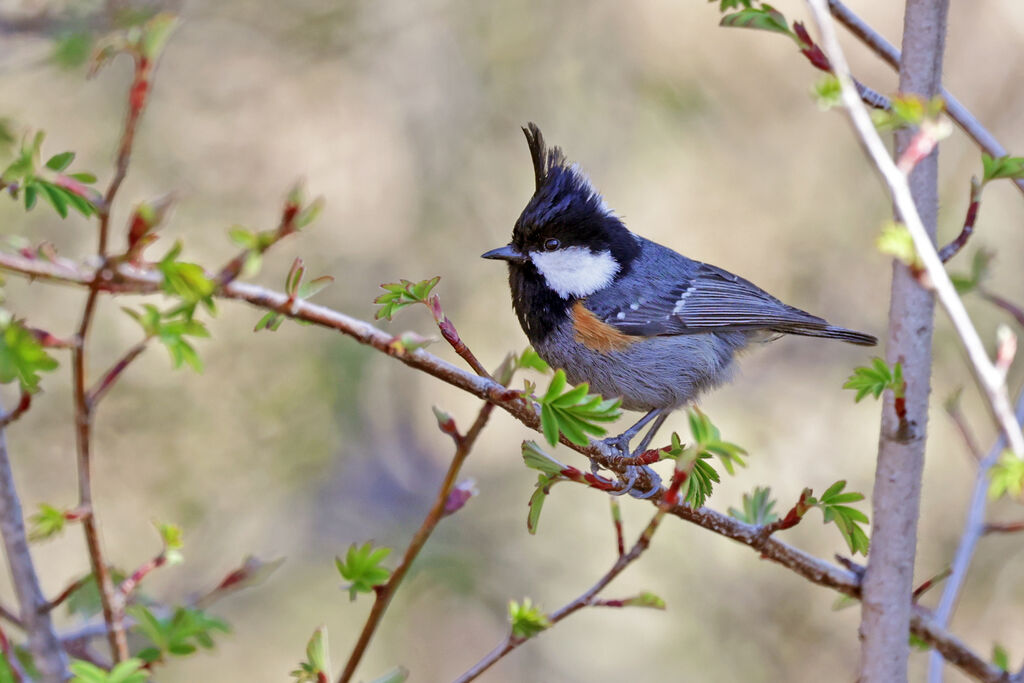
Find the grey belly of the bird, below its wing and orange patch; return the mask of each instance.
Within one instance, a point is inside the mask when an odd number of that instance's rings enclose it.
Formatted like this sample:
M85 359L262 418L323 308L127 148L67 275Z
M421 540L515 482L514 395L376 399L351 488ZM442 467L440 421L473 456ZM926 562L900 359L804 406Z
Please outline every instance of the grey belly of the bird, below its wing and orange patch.
M746 346L741 332L651 337L623 351L599 353L577 342L565 326L537 345L553 368L593 393L622 397L623 408L679 408L730 379L735 352Z

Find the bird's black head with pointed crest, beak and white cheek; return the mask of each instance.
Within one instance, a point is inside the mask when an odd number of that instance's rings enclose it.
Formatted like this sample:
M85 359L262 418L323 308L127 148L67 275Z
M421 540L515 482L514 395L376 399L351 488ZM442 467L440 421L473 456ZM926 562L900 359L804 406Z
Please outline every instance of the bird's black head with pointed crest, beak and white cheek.
M546 147L535 124L522 130L537 189L515 223L512 242L483 258L507 261L513 287L525 279L562 299L586 297L625 274L640 245L579 166L568 164L559 147Z

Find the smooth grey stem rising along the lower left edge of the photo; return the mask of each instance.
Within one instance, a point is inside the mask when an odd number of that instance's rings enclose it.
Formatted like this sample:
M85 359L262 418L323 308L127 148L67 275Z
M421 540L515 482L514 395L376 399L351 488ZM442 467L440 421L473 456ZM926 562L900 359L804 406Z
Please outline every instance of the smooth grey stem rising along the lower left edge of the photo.
M60 646L49 613L42 609L46 604L46 597L39 585L32 554L29 552L22 502L14 485L3 430L0 430L0 535L3 536L4 554L22 612L20 618L14 617L9 611L4 617L25 629L29 649L43 681L63 681L68 678L68 657Z

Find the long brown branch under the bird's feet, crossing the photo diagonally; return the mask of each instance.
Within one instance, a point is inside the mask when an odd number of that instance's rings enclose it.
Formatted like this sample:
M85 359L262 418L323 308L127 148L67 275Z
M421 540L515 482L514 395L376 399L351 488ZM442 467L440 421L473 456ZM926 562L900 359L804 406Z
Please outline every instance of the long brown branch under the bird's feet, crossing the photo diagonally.
M89 268L68 259L43 261L26 258L16 254L0 253L0 270L25 276L75 286L88 286L94 273ZM125 293L147 294L158 291L160 275L153 270L120 265L101 278L104 287ZM495 403L524 426L541 431L540 417L536 407L524 401L519 392L509 391L498 382L468 373L425 349L402 351L391 343L392 335L340 311L308 301L289 304L288 295L248 283L230 283L219 297L246 301L258 308L274 310L289 317L339 332L360 344L389 355L404 365L435 377L446 384L462 389L479 398ZM580 446L563 440L567 447L586 456L606 469L615 470L614 458L607 457L596 443ZM662 496L654 496L651 502L659 504ZM700 508L677 505L669 514L691 522L714 533L750 546L763 558L788 568L807 581L854 597L860 594L860 579L856 572L837 567L807 553L786 545L774 538L761 538L760 528L744 524L727 515ZM910 631L925 642L941 651L947 659L981 681L999 681L1002 672L989 665L984 657L974 653L964 644L932 622L929 614L915 612L911 616ZM104 631L105 632L105 631Z

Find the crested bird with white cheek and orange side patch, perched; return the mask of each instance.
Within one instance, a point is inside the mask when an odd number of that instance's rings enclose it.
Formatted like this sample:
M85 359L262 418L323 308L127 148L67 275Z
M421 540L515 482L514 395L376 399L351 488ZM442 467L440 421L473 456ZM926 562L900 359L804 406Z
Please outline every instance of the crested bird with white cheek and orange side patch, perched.
M642 453L674 411L731 379L737 352L783 335L873 346L869 334L782 303L728 270L687 258L632 232L578 164L547 146L534 123L522 129L536 189L512 241L482 258L508 263L512 307L537 353L574 385L644 416L604 440L622 457ZM595 468L596 469L596 468ZM618 493L633 489L627 468Z

